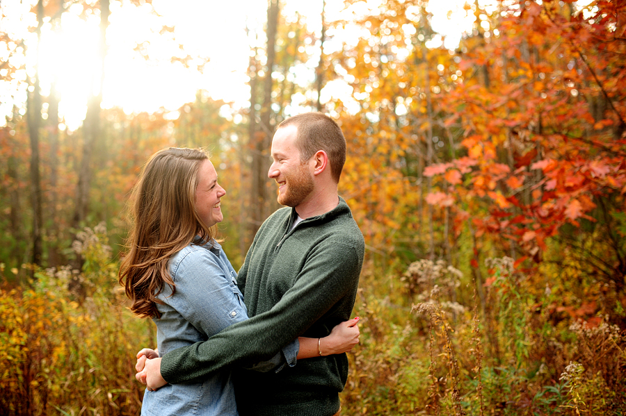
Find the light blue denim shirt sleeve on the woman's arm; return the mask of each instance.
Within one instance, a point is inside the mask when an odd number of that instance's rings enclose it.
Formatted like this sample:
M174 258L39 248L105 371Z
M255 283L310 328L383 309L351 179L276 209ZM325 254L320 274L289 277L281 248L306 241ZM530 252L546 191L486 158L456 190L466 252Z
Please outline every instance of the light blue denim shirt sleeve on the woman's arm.
M235 322L248 319L243 295L236 285L236 272L218 245L214 250L186 247L172 258L170 273L176 286L175 294L171 296L170 287L166 285L159 299L208 338ZM257 363L255 369L279 372L285 364L296 365L299 346L298 340L294 340L270 360Z

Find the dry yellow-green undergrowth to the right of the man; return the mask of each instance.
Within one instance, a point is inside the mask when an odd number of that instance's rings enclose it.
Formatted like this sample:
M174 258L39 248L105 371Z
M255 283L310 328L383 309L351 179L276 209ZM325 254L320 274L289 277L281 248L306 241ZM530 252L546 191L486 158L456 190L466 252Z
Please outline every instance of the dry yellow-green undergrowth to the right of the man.
M594 315L595 301L568 306L576 302L559 278L569 276L524 275L508 257L485 270L481 297L444 260L385 278L365 267L346 415L626 413L626 338L615 319ZM551 284L534 290L543 279Z

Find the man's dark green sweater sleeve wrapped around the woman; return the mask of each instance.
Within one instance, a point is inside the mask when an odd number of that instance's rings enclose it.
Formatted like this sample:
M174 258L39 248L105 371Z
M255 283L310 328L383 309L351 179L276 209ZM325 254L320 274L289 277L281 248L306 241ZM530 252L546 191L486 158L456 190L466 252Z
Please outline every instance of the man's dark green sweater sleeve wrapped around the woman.
M344 297L353 296L361 269L360 254L342 242L316 247L294 285L271 310L233 324L207 341L167 353L161 360L161 375L169 383L195 381L226 367L273 356ZM350 310L343 319L349 314Z

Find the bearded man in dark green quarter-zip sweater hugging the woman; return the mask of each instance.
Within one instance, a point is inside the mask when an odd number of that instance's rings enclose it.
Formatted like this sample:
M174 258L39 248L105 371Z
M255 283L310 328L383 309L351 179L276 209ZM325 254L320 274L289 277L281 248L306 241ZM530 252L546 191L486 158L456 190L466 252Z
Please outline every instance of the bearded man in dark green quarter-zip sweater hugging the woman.
M355 301L364 240L337 193L346 160L341 128L321 113L291 117L272 140L268 176L281 208L259 228L239 271L250 319L206 342L147 360L149 388L273 356L298 336L320 338L346 321ZM323 346L319 346L323 348ZM160 371L160 374L159 374ZM235 374L241 415L319 415L339 411L346 354L301 360L280 372Z

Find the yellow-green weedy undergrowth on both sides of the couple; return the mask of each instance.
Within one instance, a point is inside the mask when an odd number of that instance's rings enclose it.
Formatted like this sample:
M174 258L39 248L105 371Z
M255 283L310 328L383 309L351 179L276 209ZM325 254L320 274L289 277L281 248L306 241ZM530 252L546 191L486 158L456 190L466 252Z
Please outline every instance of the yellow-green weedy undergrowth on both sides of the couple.
M80 274L38 269L28 287L0 288L0 414L138 414L134 355L155 330L127 310L107 241L86 228ZM515 266L488 259L476 285L444 260L383 267L369 256L342 414L625 414L620 294L572 306L560 281L571 276Z

